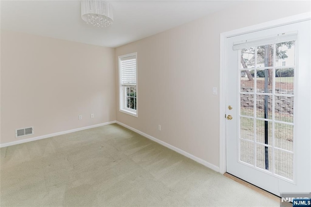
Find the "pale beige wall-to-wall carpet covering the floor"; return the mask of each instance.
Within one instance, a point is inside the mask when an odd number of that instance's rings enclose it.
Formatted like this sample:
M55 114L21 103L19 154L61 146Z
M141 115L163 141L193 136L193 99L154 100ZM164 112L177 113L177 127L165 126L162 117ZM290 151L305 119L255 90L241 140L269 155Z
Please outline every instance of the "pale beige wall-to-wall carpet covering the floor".
M0 206L279 206L118 124L0 149Z

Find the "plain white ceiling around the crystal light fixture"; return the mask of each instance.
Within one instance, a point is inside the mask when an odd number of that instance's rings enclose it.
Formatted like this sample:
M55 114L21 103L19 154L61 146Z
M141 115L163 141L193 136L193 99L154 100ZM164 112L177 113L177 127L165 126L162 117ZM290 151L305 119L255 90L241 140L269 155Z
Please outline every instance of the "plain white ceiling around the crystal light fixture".
M118 47L230 7L233 0L110 0L110 27L87 25L80 0L1 0L1 29Z

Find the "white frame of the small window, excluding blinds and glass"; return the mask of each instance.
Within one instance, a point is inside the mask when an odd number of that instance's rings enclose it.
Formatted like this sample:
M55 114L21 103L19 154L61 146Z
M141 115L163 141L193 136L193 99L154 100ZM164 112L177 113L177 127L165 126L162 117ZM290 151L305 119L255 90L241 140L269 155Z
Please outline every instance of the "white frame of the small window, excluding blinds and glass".
M126 107L126 86L122 86L122 81L121 81L121 59L126 58L126 57L132 57L135 56L136 58L136 110L127 108ZM138 117L138 72L137 72L137 52L125 54L125 55L120 55L118 56L118 63L119 63L119 111L134 117ZM135 86L131 86L135 87Z

